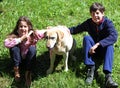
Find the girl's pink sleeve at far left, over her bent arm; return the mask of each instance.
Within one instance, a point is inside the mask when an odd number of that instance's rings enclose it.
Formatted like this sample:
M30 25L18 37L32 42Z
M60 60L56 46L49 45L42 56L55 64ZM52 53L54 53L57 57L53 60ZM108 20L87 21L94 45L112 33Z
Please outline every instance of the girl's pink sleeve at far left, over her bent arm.
M4 46L7 48L14 47L15 45L21 43L20 38L7 38L4 41Z

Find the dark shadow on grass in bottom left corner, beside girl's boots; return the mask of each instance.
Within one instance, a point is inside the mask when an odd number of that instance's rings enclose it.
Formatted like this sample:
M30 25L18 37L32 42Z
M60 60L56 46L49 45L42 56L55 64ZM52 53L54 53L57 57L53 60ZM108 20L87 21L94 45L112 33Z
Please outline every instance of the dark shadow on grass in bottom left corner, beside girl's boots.
M0 76L4 78L4 76L8 75L11 79L14 77L13 71L13 62L11 58L4 57L4 59L0 58ZM21 78L21 82L17 83L15 80L12 81L11 88L25 88L24 87L24 79Z

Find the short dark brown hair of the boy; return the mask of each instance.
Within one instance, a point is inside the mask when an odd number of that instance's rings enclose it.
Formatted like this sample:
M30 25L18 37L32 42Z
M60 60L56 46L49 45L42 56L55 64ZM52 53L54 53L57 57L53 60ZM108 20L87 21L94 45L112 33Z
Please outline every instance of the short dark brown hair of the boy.
M96 10L103 13L105 11L105 7L101 3L95 2L90 6L90 13L95 12Z

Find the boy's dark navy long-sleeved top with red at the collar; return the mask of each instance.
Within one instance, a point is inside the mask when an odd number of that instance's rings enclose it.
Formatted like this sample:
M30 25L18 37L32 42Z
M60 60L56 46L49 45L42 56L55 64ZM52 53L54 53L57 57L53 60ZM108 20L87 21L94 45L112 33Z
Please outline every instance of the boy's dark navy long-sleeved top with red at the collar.
M107 17L97 25L92 21L92 18L87 19L76 27L69 28L71 34L81 33L86 31L93 38L94 42L99 42L102 47L112 45L117 41L118 33L112 23Z

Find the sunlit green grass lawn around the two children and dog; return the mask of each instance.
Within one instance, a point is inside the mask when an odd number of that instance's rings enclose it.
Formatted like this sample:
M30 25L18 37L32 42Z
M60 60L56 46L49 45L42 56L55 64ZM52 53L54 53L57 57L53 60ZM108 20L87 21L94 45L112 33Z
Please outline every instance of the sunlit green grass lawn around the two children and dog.
M16 25L19 16L28 16L34 28L43 29L47 26L66 25L75 26L90 17L89 6L98 1L106 7L108 16L120 34L120 1L118 0L0 0L0 88L25 88L24 78L18 84L14 82L13 67L9 51L4 47L4 39ZM62 62L58 64L53 74L45 75L49 67L49 55L45 41L37 44L37 63L33 74L31 88L102 88L104 74L102 65L99 76L90 86L85 85L85 66L83 64L82 38L86 33L73 35L77 40L77 63L70 66L66 73L61 69ZM120 41L115 43L113 65L113 79L120 85ZM24 76L24 73L22 73Z

